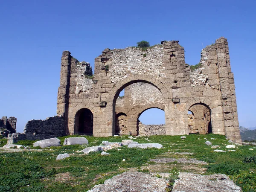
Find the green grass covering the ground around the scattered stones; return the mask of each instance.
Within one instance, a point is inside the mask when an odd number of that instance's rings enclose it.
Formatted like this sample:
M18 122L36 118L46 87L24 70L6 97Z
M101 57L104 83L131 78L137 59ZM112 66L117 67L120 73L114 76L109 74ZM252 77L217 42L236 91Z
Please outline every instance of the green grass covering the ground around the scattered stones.
M244 191L256 190L254 186L256 177L256 163L244 162L246 157L254 157L255 149L251 146L239 146L236 152L217 153L211 146L205 145L204 138L211 141L212 145L220 145L221 150L226 150L229 144L222 135L186 135L185 140L180 136L150 136L137 137L134 141L139 143L160 143L162 149L127 148L120 147L119 151L111 149L111 155L102 156L100 152L81 155L80 151L87 146L101 145L103 140L109 142L121 142L128 139L127 136L119 137L91 137L91 136L66 136L59 137L61 144L67 137L86 137L88 145L67 145L45 148L43 151L22 151L15 153L0 153L0 191L86 191L94 185L104 183L113 175L119 174L128 168L137 168L144 165L154 165L148 162L151 158L160 156L176 157L173 152L190 152L189 158L204 160L209 164L206 174L224 173L230 176ZM199 138L199 139L198 139ZM216 140L211 140L215 138ZM149 141L148 141L149 140ZM1 139L0 141L3 141ZM32 146L35 141L19 141L18 144ZM169 153L165 153L168 152ZM73 154L70 157L56 161L58 154ZM122 161L125 159L125 161ZM148 172L142 169L142 172ZM71 179L61 182L55 180L58 174L69 173ZM249 179L247 179L249 178ZM254 187L254 188L253 188Z

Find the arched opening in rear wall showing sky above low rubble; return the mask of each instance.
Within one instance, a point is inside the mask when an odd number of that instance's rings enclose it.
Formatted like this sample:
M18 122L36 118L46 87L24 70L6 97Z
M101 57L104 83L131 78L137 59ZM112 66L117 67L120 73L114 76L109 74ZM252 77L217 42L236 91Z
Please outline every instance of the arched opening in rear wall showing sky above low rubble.
M158 108L150 108L137 119L138 135L165 135L165 112Z

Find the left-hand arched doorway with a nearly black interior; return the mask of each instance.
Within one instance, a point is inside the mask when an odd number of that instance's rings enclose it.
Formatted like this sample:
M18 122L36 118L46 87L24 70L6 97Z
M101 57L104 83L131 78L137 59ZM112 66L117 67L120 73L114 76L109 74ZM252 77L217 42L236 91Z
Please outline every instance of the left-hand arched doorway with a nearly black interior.
M93 113L83 108L75 116L75 134L93 135Z

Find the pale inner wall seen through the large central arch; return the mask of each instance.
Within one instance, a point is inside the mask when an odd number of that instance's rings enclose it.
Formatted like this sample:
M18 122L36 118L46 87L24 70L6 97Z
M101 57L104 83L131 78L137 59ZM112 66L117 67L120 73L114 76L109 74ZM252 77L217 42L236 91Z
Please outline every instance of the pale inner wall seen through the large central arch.
M145 106L147 107L146 109L152 108L152 106L155 105L163 106L165 96L168 97L168 91L163 88L163 84L157 80L155 81L162 89L158 88L158 86L151 81L140 79L126 81L122 86L119 84L119 86L116 87L116 93L113 98L113 134L116 133L116 123L119 122L116 119L116 112L125 111L128 117L127 129L123 134L137 135L137 114L140 109ZM164 91L164 93L162 93L162 91Z

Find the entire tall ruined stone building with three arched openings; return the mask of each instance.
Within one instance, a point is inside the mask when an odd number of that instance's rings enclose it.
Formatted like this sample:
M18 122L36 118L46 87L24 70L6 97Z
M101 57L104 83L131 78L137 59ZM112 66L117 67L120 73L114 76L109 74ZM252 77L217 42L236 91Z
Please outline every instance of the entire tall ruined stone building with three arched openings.
M167 135L212 132L240 143L227 39L204 48L201 66L192 71L178 42L163 41L145 51L105 49L95 58L94 76L89 63L64 51L57 114L64 116L66 134L137 135L140 114L160 108Z

